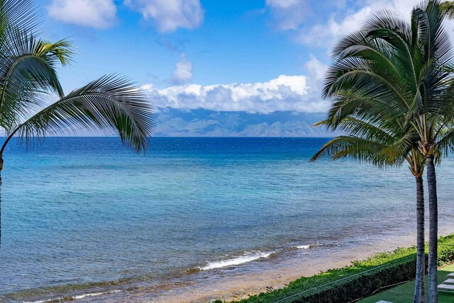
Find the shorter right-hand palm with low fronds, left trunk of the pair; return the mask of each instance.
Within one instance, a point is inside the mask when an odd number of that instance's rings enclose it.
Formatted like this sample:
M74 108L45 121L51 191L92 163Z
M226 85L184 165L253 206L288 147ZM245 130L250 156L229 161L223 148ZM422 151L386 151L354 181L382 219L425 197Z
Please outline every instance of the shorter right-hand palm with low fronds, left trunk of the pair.
M324 125L328 128L333 127L333 117L330 118L316 123L315 126ZM426 302L426 295L424 293L426 254L422 177L425 159L418 149L419 137L411 125L406 125L405 121L397 119L380 121L373 125L367 122L367 120L360 120L351 115L339 121L336 129L348 135L341 135L331 139L312 156L310 161L315 161L322 156L328 156L333 160L349 157L360 162L374 164L380 168L400 166L404 161L408 162L409 169L416 181L417 241L414 302Z

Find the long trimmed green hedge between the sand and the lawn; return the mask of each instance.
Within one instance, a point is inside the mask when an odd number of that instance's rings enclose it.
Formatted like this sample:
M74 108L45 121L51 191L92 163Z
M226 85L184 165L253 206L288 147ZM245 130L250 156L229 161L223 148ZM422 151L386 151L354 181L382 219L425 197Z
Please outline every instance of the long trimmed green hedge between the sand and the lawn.
M441 237L438 244L438 264L454 261L454 234ZM353 261L344 268L299 278L287 287L262 292L240 302L350 302L382 287L413 279L415 275L416 248L397 248L365 261Z

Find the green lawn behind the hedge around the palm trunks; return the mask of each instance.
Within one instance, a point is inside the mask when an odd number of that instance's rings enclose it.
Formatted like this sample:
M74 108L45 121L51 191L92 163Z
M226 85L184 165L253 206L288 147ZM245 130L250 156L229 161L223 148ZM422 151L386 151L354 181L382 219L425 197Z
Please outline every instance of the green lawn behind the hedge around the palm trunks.
M448 265L438 270L438 284L445 280L445 275L454 272L454 264ZM427 293L427 276L426 276L426 293ZM393 287L384 292L380 292L372 297L362 299L361 303L375 303L380 300L394 302L394 303L413 303L414 294L414 281ZM453 303L454 293L440 292L438 295L438 302L440 303Z

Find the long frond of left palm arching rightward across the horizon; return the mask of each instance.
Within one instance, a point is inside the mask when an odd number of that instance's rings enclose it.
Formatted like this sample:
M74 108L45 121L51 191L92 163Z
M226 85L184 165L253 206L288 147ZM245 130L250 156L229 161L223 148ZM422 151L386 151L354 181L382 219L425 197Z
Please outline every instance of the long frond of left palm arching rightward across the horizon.
M144 151L153 133L152 109L140 88L116 75L102 76L67 94L18 125L9 135L29 144L46 134L74 130L115 130L123 144Z

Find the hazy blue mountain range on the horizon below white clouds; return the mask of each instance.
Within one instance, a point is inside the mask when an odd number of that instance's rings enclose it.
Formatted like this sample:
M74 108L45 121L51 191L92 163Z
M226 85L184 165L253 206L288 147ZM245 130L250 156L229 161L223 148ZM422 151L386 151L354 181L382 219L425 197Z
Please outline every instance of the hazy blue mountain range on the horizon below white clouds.
M331 137L324 127L311 127L324 113L292 111L268 114L158 108L157 137Z

